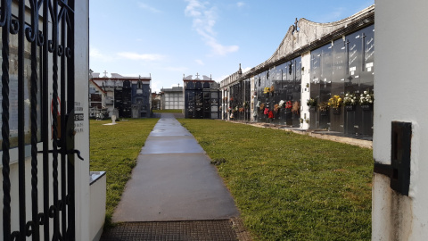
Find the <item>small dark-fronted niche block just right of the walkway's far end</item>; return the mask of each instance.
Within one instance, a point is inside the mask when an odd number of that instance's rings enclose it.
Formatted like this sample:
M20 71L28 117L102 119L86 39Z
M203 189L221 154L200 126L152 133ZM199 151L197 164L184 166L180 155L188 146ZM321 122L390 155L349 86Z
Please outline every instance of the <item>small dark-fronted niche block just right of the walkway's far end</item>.
M185 96L185 118L219 119L221 112L221 94L219 84L207 76L192 79L189 75L183 79Z

